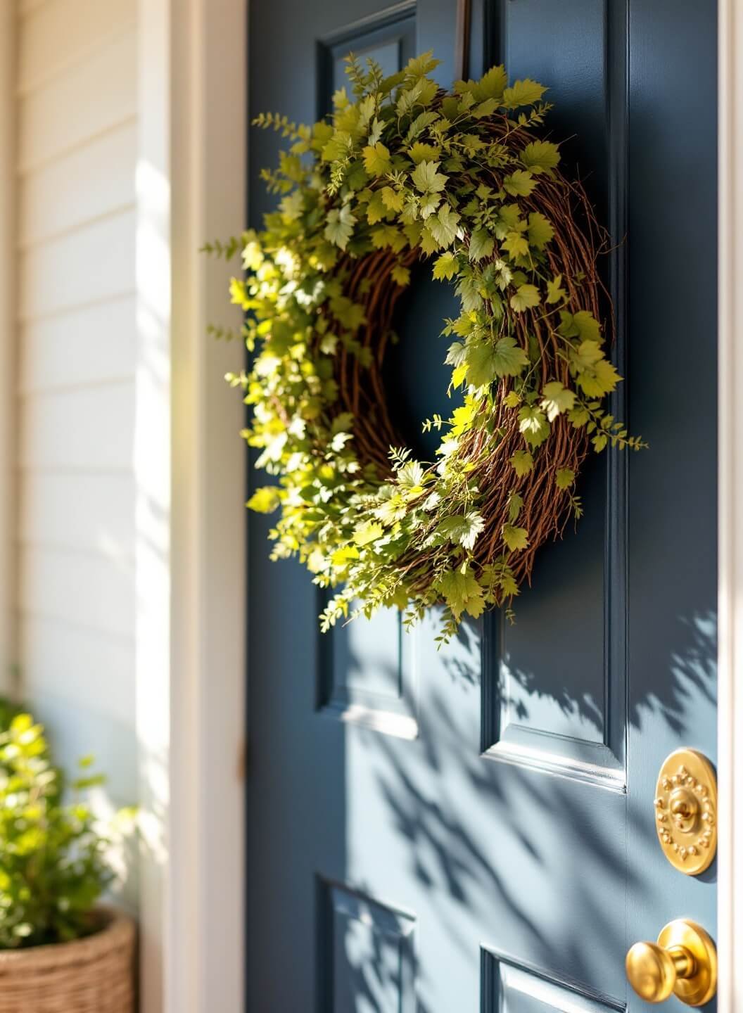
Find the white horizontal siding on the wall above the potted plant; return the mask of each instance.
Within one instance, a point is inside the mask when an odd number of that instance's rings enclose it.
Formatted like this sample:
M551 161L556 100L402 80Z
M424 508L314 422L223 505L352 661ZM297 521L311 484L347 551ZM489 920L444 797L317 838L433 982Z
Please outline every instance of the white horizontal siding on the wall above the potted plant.
M137 0L17 9L23 692L132 803Z

